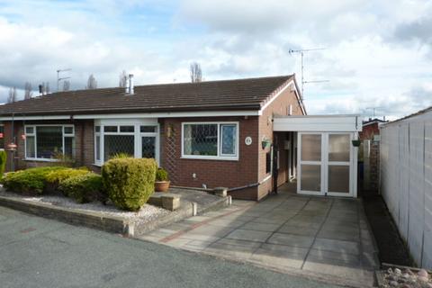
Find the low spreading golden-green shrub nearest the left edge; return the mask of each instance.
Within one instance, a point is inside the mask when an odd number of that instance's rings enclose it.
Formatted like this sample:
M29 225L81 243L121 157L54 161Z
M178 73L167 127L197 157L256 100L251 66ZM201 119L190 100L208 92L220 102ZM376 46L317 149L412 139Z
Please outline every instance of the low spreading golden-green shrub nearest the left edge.
M37 193L45 189L46 177L52 171L64 169L60 166L48 166L30 168L17 172L10 172L2 179L2 184L7 190L16 193Z

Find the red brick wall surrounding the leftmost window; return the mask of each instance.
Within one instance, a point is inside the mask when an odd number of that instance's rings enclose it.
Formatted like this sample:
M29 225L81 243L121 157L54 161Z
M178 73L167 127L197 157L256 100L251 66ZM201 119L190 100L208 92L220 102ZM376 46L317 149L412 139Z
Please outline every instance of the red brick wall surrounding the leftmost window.
M75 159L76 165L88 166L95 168L94 163L94 128L93 120L85 121L14 121L14 136L15 144L17 144L16 152L14 153L14 166L15 170L25 169L34 166L52 166L52 162L47 161L30 161L25 160L24 151L24 134L25 125L38 125L38 124L73 124L75 127ZM4 143L5 146L12 142L12 121L4 121ZM7 147L5 147L7 148ZM12 168L12 154L8 153L8 160L6 170L10 171ZM97 170L97 169L96 169Z

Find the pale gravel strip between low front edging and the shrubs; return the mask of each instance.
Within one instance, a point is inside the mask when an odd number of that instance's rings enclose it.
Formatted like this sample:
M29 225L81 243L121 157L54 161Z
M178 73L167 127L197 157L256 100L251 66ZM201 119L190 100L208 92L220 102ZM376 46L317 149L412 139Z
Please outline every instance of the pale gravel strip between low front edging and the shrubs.
M31 197L31 196L24 196L17 193L5 192L3 187L0 189L1 189L0 190L1 196L20 198L28 202L43 202L53 206L67 207L76 211L98 212L104 215L118 216L127 220L139 220L139 222L148 222L156 219L157 217L170 213L170 211L167 211L163 208L156 207L150 204L145 204L139 211L131 212L131 211L118 210L110 203L107 203L106 205L103 205L103 203L101 202L90 202L90 203L80 204L74 202L74 200L70 198L63 197L63 196L40 195L40 196Z

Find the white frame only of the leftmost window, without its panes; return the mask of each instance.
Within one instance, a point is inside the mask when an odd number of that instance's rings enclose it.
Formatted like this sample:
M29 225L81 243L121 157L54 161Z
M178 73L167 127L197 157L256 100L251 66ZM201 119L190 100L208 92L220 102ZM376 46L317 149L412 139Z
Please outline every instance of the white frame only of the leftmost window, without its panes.
M32 133L27 133L27 128L31 127L33 129ZM42 161L42 162L58 162L59 159L53 158L40 158L38 157L38 137L37 135L37 127L61 127L61 153L65 155L65 138L73 138L75 141L75 125L74 124L31 124L24 125L24 159L31 161ZM65 134L65 127L72 128L71 134ZM34 156L35 157L27 157L27 137L34 137ZM75 149L72 149L72 157L75 157Z

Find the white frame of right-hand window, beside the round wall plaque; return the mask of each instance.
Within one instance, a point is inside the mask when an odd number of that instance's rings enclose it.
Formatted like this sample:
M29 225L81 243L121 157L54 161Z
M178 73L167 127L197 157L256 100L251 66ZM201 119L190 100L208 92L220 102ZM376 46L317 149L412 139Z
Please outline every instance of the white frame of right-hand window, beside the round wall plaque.
M184 126L185 125L217 125L218 139L217 139L217 156L208 155L188 155L184 154ZM235 125L236 126L236 139L235 143L235 154L222 154L222 125ZM184 159L202 159L202 160L228 160L228 161L238 161L239 158L239 130L240 123L238 121L191 121L182 122L182 158Z

